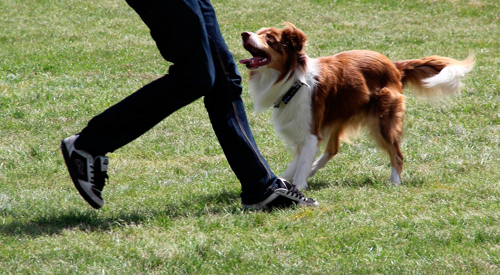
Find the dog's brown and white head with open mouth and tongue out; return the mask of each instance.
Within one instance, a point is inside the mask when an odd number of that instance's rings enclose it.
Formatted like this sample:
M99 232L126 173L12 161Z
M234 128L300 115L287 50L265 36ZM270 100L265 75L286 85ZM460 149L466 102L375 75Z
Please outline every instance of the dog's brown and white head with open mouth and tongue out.
M256 33L241 33L243 47L253 56L239 60L250 70L272 68L282 75L305 62L305 34L292 23L285 22L281 29L262 28Z

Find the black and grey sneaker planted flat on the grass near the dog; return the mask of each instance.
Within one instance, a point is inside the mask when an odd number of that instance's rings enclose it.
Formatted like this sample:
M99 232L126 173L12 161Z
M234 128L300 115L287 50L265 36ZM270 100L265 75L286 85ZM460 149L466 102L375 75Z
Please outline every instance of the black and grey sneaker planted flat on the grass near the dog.
M306 198L302 192L284 179L277 178L269 187L271 195L256 204L243 204L243 209L266 210L271 208L298 206L318 206L316 200Z

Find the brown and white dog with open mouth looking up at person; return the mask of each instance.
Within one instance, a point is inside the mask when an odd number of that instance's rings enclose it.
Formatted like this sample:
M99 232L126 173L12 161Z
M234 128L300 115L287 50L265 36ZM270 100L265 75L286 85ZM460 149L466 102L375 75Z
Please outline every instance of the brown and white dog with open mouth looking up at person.
M460 90L460 77L472 69L473 54L458 61L428 56L392 62L368 50L309 58L305 34L291 23L282 29L241 33L253 56L239 62L250 69L255 112L273 108L276 132L294 149L281 175L299 189L333 157L339 140L365 127L391 161L389 182L399 185L403 156L403 86L416 95L443 98ZM314 161L321 142L324 153Z

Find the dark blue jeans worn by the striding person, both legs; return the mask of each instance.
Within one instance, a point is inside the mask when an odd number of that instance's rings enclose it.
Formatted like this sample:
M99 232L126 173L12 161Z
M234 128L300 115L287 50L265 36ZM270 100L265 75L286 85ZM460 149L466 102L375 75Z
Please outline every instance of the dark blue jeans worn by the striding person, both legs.
M93 154L113 152L204 96L215 135L241 183L242 202L262 200L276 176L255 145L241 101L241 76L209 0L126 2L151 30L163 58L173 65L168 74L92 118L75 147Z

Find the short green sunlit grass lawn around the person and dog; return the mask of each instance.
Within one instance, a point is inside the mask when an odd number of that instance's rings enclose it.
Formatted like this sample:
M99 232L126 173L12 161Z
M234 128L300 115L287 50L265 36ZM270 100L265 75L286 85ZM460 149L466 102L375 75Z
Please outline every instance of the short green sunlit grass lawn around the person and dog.
M371 49L476 66L436 105L406 91L401 187L365 136L309 180L320 207L241 212L200 100L110 157L106 205L78 195L60 139L166 73L125 1L0 3L0 274L500 274L500 3L496 0L219 0L235 59L242 31L290 21L311 57ZM291 160L270 112L257 144Z

